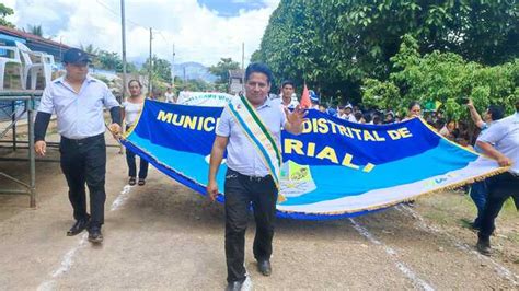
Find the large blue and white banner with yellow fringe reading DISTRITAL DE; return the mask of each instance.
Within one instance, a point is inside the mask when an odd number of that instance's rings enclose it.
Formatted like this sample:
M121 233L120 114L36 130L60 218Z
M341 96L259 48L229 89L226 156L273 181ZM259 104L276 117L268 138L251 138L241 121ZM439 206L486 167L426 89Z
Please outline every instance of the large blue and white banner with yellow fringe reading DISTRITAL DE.
M123 143L164 174L206 195L222 107L146 101ZM452 143L419 118L373 126L309 110L303 132L282 131L280 217L353 217L506 171ZM224 199L227 165L218 172Z

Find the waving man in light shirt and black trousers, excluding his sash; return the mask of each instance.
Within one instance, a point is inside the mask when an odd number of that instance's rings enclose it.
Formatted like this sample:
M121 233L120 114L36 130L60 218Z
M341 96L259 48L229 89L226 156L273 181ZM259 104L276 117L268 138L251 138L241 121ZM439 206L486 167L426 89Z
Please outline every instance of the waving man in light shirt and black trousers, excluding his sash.
M279 103L268 98L270 81L270 69L263 63L251 63L245 70L245 97L272 132L274 142L280 148L281 128L295 135L300 133L305 113L299 106L288 112L287 108L281 108ZM252 143L239 120L241 119L233 117L230 106L223 109L216 129L217 137L211 150L207 185L207 193L211 200L215 200L218 196L216 175L227 150L228 171L224 184L227 290L241 290L246 279L244 247L247 210L251 203L256 221L254 257L260 272L270 276L278 196L274 177L262 162L264 158L258 153L257 144Z

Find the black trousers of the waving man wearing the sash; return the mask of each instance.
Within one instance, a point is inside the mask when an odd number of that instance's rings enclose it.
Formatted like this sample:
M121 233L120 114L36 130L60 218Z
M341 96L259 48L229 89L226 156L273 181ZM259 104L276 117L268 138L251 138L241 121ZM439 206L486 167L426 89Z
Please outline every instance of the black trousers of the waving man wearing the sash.
M229 168L224 194L227 281L232 282L245 278L245 230L251 203L256 221L254 257L257 260L270 258L278 190L270 175L250 177Z

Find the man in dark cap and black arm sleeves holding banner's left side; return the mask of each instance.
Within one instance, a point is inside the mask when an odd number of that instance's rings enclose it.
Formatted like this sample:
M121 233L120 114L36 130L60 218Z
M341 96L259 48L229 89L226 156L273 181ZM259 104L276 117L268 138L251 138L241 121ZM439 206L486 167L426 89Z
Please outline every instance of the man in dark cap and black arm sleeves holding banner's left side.
M35 151L45 155L45 132L53 113L58 120L61 136L61 171L69 186L69 199L76 223L67 232L72 236L89 230L89 241L101 243L101 225L104 222L104 189L106 173L105 124L103 107L109 109L114 135L120 132L119 104L105 83L91 78L89 55L77 48L64 55L66 75L48 83L36 114L34 136ZM86 194L90 191L90 211L86 212Z

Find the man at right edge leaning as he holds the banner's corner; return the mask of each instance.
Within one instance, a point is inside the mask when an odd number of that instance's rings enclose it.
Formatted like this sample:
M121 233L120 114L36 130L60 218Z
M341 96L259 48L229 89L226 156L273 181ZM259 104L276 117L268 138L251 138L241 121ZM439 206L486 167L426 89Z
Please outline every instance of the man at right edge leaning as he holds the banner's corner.
M488 198L481 220L477 251L491 255L491 235L503 203L511 196L519 210L519 98L516 113L495 121L477 138L476 146L500 166L510 166L508 172L486 179Z

